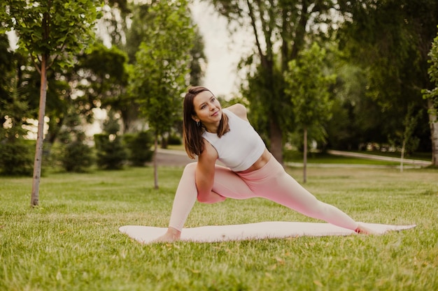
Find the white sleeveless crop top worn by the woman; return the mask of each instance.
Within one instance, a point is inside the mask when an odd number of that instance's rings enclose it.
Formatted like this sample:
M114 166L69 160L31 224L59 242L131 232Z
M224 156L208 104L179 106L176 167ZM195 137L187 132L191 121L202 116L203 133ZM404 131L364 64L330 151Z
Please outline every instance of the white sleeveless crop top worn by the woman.
M229 110L222 110L228 117L229 132L218 137L205 131L202 135L218 151L218 160L234 172L247 170L262 156L265 149L262 137L248 121Z

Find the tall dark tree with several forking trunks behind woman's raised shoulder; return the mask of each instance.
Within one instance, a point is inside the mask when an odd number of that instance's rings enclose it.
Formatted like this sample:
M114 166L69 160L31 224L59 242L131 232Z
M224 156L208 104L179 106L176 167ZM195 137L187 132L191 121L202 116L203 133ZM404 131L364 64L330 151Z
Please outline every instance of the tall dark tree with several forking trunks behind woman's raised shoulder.
M255 52L243 64L249 70L248 88L251 119L262 135L269 135L272 154L283 163L283 135L290 132L290 98L284 94L283 73L307 41L318 35L320 24L334 22L330 11L337 1L302 0L209 0L227 17L229 27L250 27ZM309 27L311 26L311 29ZM278 47L278 48L277 48ZM255 86L255 89L249 87ZM264 128L259 125L267 124ZM261 130L262 129L262 130Z

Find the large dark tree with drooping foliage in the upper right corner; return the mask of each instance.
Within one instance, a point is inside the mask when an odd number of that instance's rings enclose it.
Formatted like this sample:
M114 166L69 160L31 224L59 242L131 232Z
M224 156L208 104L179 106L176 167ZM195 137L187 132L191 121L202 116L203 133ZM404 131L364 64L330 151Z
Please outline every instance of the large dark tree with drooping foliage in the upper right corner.
M438 2L342 0L339 10L346 15L338 33L340 46L350 52L351 61L367 70L367 96L379 104L387 121L381 130L390 128L388 135L404 131L403 121L411 107L416 112L423 108L433 112L433 103L423 100L421 89L433 87L428 78L428 53L437 35ZM418 126L434 122L434 115L429 114ZM430 136L438 135L435 130L438 126L430 126ZM432 161L437 157L432 138Z

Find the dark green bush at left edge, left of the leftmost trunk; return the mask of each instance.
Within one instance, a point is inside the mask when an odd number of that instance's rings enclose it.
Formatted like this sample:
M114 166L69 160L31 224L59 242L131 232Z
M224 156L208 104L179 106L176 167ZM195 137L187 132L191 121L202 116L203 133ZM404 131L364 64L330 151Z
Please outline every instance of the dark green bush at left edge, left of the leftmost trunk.
M34 172L34 142L5 140L0 143L0 173L10 176L32 176Z

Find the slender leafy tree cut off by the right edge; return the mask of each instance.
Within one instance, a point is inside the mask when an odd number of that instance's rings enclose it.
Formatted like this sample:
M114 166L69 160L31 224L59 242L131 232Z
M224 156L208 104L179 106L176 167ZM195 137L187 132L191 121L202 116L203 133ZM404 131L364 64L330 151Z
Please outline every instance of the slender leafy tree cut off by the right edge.
M432 43L432 48L429 52L430 68L428 73L430 81L435 84L433 89L424 89L423 96L428 100L430 132L432 140L432 165L438 166L438 35Z

